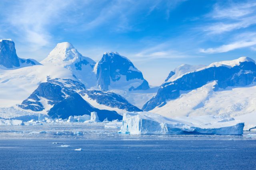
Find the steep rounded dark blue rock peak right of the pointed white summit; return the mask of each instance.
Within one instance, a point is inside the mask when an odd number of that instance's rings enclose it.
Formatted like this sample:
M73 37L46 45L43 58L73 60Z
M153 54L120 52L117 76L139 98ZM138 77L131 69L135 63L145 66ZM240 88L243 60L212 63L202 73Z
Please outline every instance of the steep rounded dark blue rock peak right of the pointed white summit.
M104 53L96 64L98 86L101 90L147 90L148 82L132 62L117 52Z

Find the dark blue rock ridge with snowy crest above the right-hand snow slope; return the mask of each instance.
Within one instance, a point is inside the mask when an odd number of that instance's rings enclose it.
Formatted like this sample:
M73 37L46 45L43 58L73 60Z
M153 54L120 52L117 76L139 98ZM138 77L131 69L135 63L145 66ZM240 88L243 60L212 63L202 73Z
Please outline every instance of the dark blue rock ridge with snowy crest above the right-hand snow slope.
M225 74L224 74L225 73ZM149 111L155 107L162 107L168 100L174 100L181 94L200 88L205 84L216 81L214 90L234 86L247 86L256 79L256 64L247 57L233 61L224 61L210 64L209 66L186 72L174 79L170 76L158 89L156 96L149 100L143 110Z

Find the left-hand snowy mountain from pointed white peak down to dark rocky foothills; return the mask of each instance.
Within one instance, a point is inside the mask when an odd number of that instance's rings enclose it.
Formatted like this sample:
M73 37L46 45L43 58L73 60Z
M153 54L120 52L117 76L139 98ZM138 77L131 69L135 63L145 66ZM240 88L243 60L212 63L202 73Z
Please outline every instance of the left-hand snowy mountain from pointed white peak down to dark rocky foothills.
M120 119L119 114L128 110L140 111L118 94L98 90L92 95L93 91L87 88L96 85L95 62L83 57L70 43L59 43L42 63L0 69L0 112L67 118L96 111L100 120L112 120ZM79 94L80 91L84 93Z

